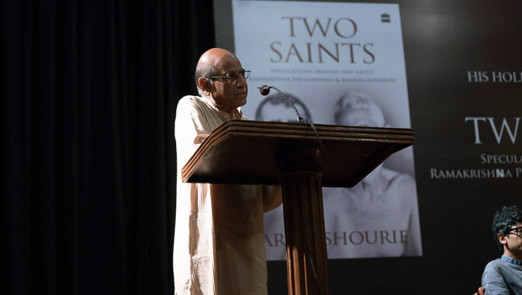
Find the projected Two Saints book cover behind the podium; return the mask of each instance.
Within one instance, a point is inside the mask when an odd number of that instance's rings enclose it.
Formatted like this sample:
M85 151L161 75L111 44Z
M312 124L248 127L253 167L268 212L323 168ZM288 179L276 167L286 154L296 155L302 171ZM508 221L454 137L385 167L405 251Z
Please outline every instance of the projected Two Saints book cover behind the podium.
M253 120L411 127L400 7L390 3L233 1L235 53ZM324 188L329 258L422 255L413 150L353 188ZM282 206L264 216L268 260L285 260Z

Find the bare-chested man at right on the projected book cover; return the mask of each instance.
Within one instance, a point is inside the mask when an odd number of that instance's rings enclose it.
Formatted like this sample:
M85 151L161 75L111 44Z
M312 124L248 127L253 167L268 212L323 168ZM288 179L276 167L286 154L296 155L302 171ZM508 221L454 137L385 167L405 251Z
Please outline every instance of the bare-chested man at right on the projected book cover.
M347 93L335 104L333 115L336 125L390 127L379 104L366 93ZM323 198L329 257L421 254L412 175L381 164L353 188L323 188Z

